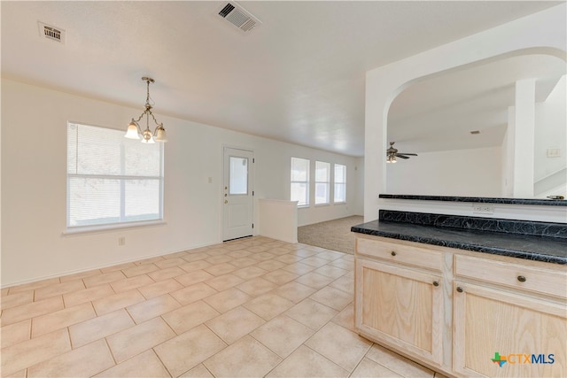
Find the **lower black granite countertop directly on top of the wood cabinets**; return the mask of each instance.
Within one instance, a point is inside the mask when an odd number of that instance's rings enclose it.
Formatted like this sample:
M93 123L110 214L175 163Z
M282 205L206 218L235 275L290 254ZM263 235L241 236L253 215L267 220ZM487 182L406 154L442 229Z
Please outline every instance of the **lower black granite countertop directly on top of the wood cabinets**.
M567 239L373 220L351 228L366 235L440 245L514 258L567 264Z

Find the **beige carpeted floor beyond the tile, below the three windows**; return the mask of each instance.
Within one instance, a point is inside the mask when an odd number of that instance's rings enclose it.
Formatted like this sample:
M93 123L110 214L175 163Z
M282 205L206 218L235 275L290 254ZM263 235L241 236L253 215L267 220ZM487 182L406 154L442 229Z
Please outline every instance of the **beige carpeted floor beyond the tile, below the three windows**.
M353 254L354 234L351 227L361 223L364 223L364 217L354 215L302 226L298 228L298 242Z

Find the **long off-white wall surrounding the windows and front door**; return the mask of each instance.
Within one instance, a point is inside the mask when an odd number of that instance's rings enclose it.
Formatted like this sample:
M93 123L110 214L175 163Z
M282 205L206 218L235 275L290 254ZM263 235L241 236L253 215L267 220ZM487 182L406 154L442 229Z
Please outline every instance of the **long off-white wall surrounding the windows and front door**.
M356 213L356 158L157 113L170 140L165 151L167 224L63 236L67 121L125 130L139 112L2 80L3 287L220 243L223 145L254 150L257 198L290 198L291 156L346 165L347 204L302 209L300 220L308 223ZM119 236L126 237L125 246L118 246Z

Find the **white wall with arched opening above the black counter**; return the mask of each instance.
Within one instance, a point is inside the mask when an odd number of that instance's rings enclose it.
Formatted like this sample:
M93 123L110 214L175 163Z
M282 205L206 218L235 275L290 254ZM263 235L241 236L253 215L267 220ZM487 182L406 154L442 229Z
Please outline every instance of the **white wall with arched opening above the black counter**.
M511 21L499 27L470 35L437 48L423 51L366 73L364 218L377 219L385 202L378 198L386 190L385 150L387 115L393 99L412 82L445 71L485 64L499 58L521 54L550 54L565 59L567 4L558 4L543 12ZM464 205L463 205L464 206ZM529 206L507 208L510 218L537 216ZM546 207L546 206L542 206ZM548 206L551 207L551 206ZM428 208L436 209L435 205ZM439 210L439 209L438 209ZM469 208L462 214L470 213ZM567 222L567 215L560 215ZM551 217L555 219L555 217Z

